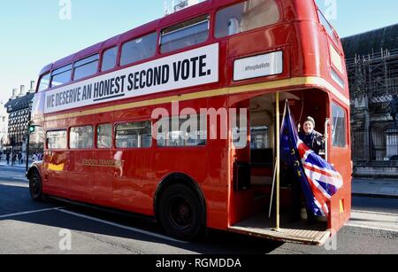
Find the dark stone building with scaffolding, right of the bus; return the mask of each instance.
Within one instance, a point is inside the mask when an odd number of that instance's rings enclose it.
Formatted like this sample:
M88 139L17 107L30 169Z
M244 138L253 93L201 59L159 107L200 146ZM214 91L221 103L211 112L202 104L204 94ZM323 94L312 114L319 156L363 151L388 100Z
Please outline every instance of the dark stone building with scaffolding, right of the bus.
M354 175L398 176L398 24L342 40L351 93Z

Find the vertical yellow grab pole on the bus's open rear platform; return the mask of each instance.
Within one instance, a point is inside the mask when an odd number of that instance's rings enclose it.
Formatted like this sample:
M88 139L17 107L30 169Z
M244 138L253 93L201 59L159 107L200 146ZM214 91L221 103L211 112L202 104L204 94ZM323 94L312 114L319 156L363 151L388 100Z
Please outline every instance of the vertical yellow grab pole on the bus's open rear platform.
M280 229L280 117L279 92L276 93L276 230Z

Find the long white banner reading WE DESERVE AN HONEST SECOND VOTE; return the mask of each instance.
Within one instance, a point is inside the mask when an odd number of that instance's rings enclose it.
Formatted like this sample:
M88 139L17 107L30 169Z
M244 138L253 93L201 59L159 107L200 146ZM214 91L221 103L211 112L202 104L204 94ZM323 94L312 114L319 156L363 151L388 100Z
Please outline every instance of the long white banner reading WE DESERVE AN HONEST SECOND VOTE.
M50 90L44 113L218 82L218 43Z

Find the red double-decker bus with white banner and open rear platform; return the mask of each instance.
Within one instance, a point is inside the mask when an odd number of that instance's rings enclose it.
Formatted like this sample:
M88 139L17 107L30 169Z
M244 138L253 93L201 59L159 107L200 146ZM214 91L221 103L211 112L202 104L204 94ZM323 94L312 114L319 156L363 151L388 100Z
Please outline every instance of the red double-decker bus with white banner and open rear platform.
M343 180L313 224L280 162L284 105L298 129L316 120ZM181 240L323 245L350 217L349 106L341 40L313 0L204 1L44 66L30 193L149 216Z

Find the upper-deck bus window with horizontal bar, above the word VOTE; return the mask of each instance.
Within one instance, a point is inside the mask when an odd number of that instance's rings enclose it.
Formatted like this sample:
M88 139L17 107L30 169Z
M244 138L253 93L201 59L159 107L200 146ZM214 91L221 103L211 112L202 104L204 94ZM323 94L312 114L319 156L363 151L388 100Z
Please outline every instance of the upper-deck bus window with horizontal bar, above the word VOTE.
M209 16L190 19L162 31L160 47L162 53L176 51L205 42L209 37Z

